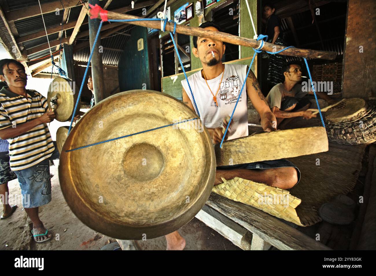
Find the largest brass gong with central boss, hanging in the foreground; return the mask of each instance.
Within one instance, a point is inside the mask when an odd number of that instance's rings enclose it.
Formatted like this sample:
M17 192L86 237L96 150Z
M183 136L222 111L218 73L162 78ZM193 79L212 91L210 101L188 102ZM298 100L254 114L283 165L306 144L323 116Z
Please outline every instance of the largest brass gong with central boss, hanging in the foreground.
M123 240L159 237L188 223L215 177L214 148L200 121L66 151L196 117L181 101L151 90L97 103L71 129L60 154L59 180L73 213Z

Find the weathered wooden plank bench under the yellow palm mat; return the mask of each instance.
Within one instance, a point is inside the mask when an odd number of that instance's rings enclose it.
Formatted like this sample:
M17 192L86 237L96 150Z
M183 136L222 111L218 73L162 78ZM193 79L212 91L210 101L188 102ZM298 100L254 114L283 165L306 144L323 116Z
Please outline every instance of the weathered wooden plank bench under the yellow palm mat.
M215 193L196 218L244 250L331 250L270 214Z

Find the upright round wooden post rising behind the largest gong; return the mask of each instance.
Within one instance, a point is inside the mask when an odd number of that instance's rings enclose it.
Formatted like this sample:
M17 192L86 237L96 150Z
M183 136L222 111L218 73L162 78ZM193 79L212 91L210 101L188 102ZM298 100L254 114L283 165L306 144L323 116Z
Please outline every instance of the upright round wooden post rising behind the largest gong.
M91 5L99 5L99 0L89 0ZM89 20L89 41L90 49L93 48L93 43L99 29L99 19ZM93 55L91 58L91 75L94 87L94 100L99 103L106 98L105 95L105 84L103 81L103 67L102 67L102 51L100 51L100 38L98 38L97 44L95 45ZM83 80L86 81L86 80Z

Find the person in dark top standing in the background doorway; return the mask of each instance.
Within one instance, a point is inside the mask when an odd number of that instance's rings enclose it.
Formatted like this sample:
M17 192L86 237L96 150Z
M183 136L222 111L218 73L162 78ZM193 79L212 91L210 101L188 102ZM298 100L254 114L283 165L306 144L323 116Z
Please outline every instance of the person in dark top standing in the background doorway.
M266 23L266 28L264 35L268 36L268 42L276 45L287 46L283 39L283 32L281 29L281 22L279 17L274 14L275 9L274 5L271 3L266 3L264 5L264 21ZM285 59L284 57L276 54L270 55L267 81L269 89L275 86L278 83L284 81L283 76L280 74L282 66L284 66Z

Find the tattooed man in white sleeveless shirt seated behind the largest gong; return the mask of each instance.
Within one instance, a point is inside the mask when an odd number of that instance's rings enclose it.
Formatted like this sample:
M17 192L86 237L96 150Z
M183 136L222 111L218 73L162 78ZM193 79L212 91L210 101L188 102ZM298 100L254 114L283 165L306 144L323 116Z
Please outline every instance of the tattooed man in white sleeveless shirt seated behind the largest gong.
M213 22L203 23L201 28L219 31L220 27ZM202 62L203 69L191 75L189 79L192 93L196 100L203 124L208 129L213 143L219 143L223 137L223 124L232 114L243 81L247 74L247 65L224 65L221 60L225 51L222 41L193 37L193 54ZM183 102L195 113L193 98L186 80L182 81ZM261 116L264 131L276 130L276 118L271 112L258 81L252 71L247 77L246 86L239 99L226 140L248 136L247 95ZM271 160L234 166L217 167L214 185L222 183L221 177L249 179L273 187L289 189L299 182L300 172L288 160ZM185 240L177 231L166 235L167 249L182 250Z

